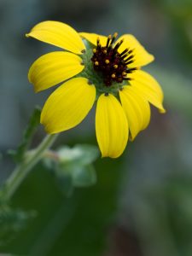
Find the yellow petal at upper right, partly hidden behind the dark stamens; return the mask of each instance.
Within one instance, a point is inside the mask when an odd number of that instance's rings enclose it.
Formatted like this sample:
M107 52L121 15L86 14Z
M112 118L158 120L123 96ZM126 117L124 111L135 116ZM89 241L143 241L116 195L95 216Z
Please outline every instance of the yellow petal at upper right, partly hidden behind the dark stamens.
M121 36L117 40L117 43L119 43L119 41L122 39L124 42L119 47L119 53L126 48L133 49L132 55L134 55L134 61L133 63L129 64L128 67L142 67L154 61L154 55L149 54L148 51L144 49L143 45L137 41L137 38L130 34L126 34Z

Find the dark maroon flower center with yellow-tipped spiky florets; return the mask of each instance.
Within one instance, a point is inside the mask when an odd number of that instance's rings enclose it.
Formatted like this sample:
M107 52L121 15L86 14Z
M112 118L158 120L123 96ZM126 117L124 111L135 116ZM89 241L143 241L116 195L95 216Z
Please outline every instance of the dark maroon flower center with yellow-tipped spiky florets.
M123 40L113 44L115 38L117 38L117 33L114 33L113 37L109 35L105 46L102 46L100 39L97 38L96 48L93 49L91 58L94 69L102 73L106 86L111 86L113 82L122 83L124 80L131 80L127 77L127 74L137 69L128 67L134 61L133 49L125 49L119 53L118 49Z

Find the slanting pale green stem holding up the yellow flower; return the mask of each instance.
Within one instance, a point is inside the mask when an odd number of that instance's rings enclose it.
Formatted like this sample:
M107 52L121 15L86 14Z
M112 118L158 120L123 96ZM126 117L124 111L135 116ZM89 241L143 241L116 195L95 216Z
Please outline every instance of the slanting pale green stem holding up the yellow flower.
M15 194L20 183L22 183L28 173L32 171L32 168L38 164L39 160L44 157L44 153L55 142L57 136L58 134L47 135L43 142L39 144L38 148L34 149L32 154L26 157L26 160L21 162L19 166L15 167L15 170L4 184L3 199L9 200L10 197Z

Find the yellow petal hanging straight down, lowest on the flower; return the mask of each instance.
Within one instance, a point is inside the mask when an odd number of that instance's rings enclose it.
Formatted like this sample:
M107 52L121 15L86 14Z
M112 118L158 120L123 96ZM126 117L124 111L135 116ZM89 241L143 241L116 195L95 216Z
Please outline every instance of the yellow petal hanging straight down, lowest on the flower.
M117 158L128 140L125 112L113 95L102 94L96 106L96 138L102 157Z

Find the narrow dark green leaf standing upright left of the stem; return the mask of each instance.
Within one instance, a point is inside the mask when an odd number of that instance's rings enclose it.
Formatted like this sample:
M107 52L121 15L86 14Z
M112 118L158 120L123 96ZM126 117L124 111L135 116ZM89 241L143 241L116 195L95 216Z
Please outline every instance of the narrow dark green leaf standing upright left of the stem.
M32 136L39 125L40 114L41 114L41 109L36 107L33 110L32 116L26 127L26 131L24 131L24 135L19 147L16 150L9 150L9 154L13 155L16 162L20 162L21 160L23 160L24 155L26 153L26 149L29 147L32 141Z

